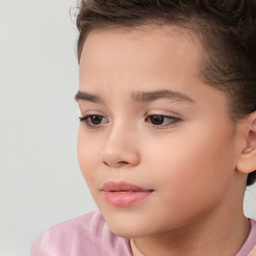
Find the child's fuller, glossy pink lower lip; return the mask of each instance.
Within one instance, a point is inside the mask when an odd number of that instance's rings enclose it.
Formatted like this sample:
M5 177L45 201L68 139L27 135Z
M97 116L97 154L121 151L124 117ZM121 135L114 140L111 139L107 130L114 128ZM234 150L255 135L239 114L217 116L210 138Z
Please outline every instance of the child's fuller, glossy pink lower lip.
M151 190L146 191L127 191L127 192L113 192L113 191L104 191L104 196L106 201L117 207L126 207L134 204L137 201L140 201L150 195Z

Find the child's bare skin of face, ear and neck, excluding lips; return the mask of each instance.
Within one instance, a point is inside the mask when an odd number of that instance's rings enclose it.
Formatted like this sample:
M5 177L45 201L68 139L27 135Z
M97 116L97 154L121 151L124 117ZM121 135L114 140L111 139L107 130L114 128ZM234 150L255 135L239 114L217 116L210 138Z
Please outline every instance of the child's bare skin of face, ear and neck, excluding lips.
M230 121L225 95L200 80L201 54L196 37L170 26L91 31L85 41L79 91L99 100L77 102L81 115L103 117L80 123L78 161L112 232L133 238L134 255L235 255L248 236L242 200L256 169L255 116ZM134 101L166 89L191 100ZM148 114L175 118L154 125ZM106 181L153 192L115 207L104 199Z

